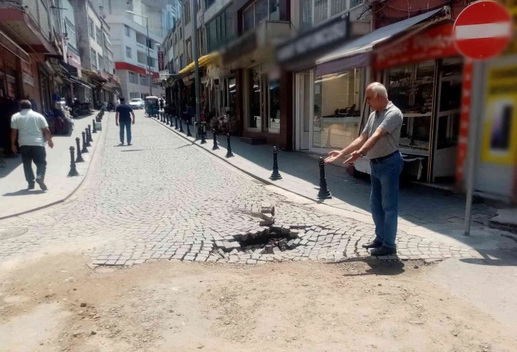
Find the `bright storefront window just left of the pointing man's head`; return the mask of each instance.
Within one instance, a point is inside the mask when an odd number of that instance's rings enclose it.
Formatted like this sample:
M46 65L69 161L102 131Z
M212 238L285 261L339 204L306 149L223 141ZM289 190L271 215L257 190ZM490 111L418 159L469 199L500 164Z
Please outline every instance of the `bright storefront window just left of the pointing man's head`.
M343 148L359 135L364 68L316 76L313 147Z

